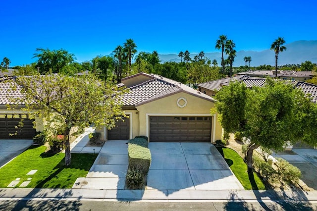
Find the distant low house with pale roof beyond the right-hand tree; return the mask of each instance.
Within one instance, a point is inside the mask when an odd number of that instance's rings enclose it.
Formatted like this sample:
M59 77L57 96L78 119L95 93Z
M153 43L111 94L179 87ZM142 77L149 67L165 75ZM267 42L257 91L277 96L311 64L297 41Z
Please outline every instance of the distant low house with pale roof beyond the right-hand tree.
M275 78L275 70L252 70L247 72L240 72L238 75L246 75L249 77L271 77ZM312 71L283 71L277 70L277 78L283 80L306 81L312 79L315 74Z

